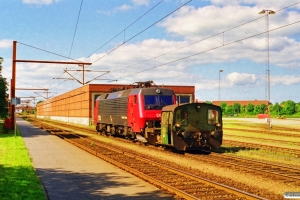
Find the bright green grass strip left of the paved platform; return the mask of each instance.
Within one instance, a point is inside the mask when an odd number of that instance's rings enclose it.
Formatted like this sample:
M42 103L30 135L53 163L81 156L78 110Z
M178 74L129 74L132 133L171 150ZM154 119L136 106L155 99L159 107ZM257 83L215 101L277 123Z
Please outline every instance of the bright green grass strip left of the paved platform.
M47 199L18 131L0 134L0 199Z

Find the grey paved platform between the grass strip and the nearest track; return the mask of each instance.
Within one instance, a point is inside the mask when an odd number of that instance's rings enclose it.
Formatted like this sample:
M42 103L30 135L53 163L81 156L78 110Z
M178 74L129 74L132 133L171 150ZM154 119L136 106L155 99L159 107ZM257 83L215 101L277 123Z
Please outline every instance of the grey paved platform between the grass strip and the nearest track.
M21 118L16 121L50 200L174 199Z

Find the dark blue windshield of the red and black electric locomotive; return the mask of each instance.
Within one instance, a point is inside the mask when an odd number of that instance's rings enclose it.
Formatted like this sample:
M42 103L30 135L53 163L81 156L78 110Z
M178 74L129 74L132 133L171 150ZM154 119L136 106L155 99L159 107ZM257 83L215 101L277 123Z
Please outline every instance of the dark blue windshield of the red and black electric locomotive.
M161 109L164 106L174 104L173 96L171 95L145 95L144 99L146 110Z

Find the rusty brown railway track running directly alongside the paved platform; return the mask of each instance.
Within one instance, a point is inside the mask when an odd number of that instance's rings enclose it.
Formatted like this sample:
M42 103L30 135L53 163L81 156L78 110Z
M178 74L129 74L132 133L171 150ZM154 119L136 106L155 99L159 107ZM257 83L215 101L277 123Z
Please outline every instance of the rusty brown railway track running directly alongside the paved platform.
M91 140L78 134L58 131L49 132L76 145L89 153L140 177L163 190L184 199L263 199L262 197L180 171L154 160L145 159L111 147L103 142Z

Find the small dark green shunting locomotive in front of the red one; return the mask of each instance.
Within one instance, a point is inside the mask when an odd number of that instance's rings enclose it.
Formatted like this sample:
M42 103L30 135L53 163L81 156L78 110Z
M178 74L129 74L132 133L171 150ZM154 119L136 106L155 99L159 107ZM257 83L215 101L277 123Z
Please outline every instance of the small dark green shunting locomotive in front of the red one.
M179 151L219 148L222 145L222 110L207 103L165 106L158 145Z

